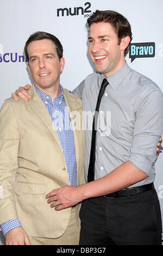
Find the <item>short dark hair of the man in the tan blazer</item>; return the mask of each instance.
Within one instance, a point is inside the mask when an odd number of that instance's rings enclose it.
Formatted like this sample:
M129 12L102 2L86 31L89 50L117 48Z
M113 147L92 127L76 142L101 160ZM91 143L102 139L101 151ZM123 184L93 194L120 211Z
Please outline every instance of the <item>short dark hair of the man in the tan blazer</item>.
M30 44L30 42L42 40L42 39L49 39L49 40L53 41L55 44L59 59L61 59L63 57L63 47L62 47L59 39L56 36L49 34L47 32L38 31L29 36L29 38L26 42L26 45L24 47L24 52L26 54L26 58L27 58L28 62L29 62L29 56L28 56L28 51L27 51L28 45Z

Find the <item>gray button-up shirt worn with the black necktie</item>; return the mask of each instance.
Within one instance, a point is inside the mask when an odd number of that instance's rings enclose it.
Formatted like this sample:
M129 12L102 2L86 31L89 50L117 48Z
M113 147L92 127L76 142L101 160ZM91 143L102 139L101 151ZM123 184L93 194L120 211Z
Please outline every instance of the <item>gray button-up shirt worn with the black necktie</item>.
M104 75L94 72L74 89L83 102L86 135L85 178L89 168L92 120ZM127 63L107 78L99 108L95 179L102 178L126 161L148 175L134 186L155 178L156 147L163 133L163 95L149 78L131 70Z

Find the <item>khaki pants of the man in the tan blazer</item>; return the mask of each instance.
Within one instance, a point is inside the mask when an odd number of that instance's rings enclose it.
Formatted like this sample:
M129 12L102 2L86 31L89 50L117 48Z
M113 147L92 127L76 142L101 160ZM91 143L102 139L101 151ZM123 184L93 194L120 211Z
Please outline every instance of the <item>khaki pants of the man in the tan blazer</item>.
M29 236L32 245L79 245L80 230L77 225L76 207L72 208L70 221L65 233L56 239Z

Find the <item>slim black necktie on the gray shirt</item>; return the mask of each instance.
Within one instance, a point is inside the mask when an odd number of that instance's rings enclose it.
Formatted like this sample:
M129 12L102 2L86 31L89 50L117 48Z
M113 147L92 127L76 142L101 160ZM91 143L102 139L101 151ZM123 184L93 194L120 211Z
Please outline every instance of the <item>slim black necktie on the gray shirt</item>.
M95 176L95 159L96 159L96 133L97 133L97 121L98 121L98 112L99 112L99 105L101 103L102 96L104 95L105 88L108 86L108 81L104 78L101 88L99 90L95 115L93 118L93 125L92 125L92 141L91 141L91 153L90 153L90 163L89 163L89 170L87 175L87 182L94 180Z

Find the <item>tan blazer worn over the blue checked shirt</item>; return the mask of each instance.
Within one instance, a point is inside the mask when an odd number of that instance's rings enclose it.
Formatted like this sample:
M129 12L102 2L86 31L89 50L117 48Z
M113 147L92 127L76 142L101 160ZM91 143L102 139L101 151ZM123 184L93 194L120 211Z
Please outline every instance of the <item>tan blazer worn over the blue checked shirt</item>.
M0 186L3 198L1 195L0 223L18 218L29 236L57 238L66 230L71 208L55 211L47 204L45 196L70 182L52 119L34 87L29 94L32 95L29 102L11 99L1 108ZM80 113L82 125L82 101L67 89L64 89L64 96L69 113ZM73 114L71 120L74 127L76 115ZM85 182L84 130L74 130L74 140L78 185L81 185Z

